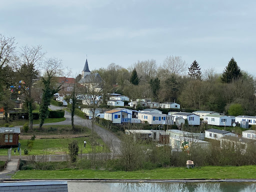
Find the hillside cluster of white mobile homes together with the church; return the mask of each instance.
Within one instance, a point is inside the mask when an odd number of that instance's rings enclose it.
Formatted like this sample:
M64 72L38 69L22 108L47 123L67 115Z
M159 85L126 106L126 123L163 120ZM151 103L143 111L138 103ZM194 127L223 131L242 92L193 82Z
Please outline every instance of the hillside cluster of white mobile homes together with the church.
M100 89L99 82L102 79L98 73L91 74L86 59L79 83L83 85L84 83L91 83L88 80L91 79L90 76L97 76L100 79L93 82L93 86L96 87L95 92L97 92ZM55 94L55 96L57 101L67 105L64 95ZM159 144L168 144L175 151L187 149L191 145L208 147L212 140L218 140L221 147L233 143L235 147L242 146L244 152L247 143L256 141L256 130L249 129L249 127L256 125L256 116L233 116L205 110L187 112L180 108L180 104L176 102L160 103L152 101L151 98L131 100L128 96L118 93L107 93L106 97L108 107L99 107L102 106L103 102L101 95L76 95L77 100L80 100L80 103L85 106L79 109L89 119L93 118L94 114L95 118L103 118L113 124L151 125L151 129L136 129L136 125L133 125L133 129L125 129L125 133L133 135L134 139L152 140ZM72 100L68 102L72 103ZM198 132L198 127L202 127L204 124L211 125L214 128L201 129ZM228 127L233 128L233 130L225 130ZM243 131L237 134L234 132L234 127L241 127ZM187 129L191 131L188 132ZM193 130L196 130L196 132L193 132Z

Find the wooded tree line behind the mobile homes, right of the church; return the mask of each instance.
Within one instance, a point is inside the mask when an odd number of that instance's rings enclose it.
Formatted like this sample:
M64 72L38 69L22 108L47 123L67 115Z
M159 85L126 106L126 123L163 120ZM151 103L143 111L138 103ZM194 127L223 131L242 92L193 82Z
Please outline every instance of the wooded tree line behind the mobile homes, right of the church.
M98 72L108 92L130 99L152 98L156 102L178 102L182 108L210 110L230 115L255 115L255 78L242 71L232 57L223 72L201 71L180 56L167 56L158 66L154 59L137 61L128 68L115 63Z

